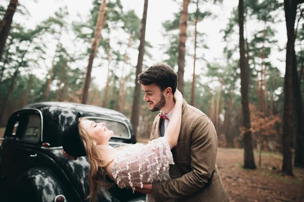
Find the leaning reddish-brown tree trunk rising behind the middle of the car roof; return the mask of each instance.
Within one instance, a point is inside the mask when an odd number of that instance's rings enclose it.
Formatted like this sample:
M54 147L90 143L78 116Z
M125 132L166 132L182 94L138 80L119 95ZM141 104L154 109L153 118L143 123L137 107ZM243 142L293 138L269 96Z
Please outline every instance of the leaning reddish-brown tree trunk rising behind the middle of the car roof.
M89 63L87 66L87 74L86 74L86 79L85 79L85 85L84 85L84 90L83 90L83 97L82 97L82 104L86 104L88 100L88 92L89 92L89 87L91 83L91 72L92 72L92 67L93 67L93 61L94 58L96 57L98 46L99 46L99 41L101 39L101 30L103 29L106 16L104 15L104 10L105 10L105 0L102 1L100 5L100 10L96 22L96 28L95 28L95 33L94 33L94 39L91 44L91 53L89 56Z

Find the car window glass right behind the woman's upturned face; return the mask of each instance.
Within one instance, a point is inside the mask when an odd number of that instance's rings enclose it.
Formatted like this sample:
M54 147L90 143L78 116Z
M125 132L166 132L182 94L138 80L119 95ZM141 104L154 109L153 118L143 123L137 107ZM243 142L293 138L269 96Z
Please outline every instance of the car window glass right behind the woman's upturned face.
M112 137L118 137L118 138L124 138L124 139L130 139L131 134L126 127L125 124L117 122L117 121L112 121L112 120L105 120L105 119L98 119L98 118L86 118L88 120L94 121L96 123L101 123L103 122L104 125L109 129L114 132Z

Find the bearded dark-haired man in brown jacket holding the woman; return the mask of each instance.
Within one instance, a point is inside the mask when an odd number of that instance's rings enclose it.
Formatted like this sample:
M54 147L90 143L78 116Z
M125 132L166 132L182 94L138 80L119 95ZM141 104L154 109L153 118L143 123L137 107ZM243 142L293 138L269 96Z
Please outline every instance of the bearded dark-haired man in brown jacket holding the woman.
M156 139L165 134L172 115L177 75L170 66L156 64L139 74L138 83L149 110L162 111L155 118L150 134L150 140ZM185 100L180 134L172 154L175 165L169 169L171 179L146 184L137 191L153 194L156 201L230 201L215 164L217 135L214 125Z

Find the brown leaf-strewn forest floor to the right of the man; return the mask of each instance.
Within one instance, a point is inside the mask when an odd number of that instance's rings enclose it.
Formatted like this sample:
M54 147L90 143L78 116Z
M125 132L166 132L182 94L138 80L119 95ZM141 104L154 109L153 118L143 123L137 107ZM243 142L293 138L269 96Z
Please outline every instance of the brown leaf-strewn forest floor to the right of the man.
M138 139L145 143L147 140ZM281 173L283 156L262 152L261 167L243 169L244 149L218 148L216 164L232 202L304 201L304 169L294 168L294 177ZM254 152L258 167L259 153Z

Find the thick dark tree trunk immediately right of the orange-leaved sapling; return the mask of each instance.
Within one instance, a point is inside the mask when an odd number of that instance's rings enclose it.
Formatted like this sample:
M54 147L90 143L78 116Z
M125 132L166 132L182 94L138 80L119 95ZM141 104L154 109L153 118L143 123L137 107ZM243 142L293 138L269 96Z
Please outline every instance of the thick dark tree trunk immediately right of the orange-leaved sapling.
M287 175L293 175L292 172L292 153L291 144L293 137L293 92L292 83L292 65L294 54L294 23L296 16L296 3L293 0L284 0L284 11L287 28L287 45L286 45L286 70L284 78L284 115L283 115L283 166L282 172Z

